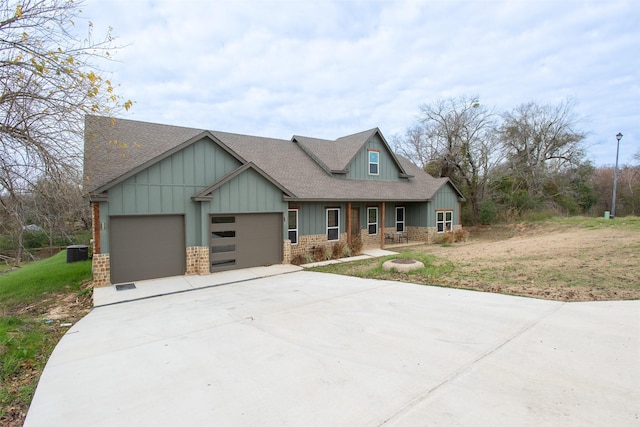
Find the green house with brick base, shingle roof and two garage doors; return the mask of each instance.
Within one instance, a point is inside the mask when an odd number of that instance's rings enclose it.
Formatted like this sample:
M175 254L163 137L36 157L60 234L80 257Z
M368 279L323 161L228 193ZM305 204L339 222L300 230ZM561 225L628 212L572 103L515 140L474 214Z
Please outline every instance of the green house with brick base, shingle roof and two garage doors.
M96 286L289 263L321 245L428 242L461 193L379 129L272 139L109 117L85 121Z

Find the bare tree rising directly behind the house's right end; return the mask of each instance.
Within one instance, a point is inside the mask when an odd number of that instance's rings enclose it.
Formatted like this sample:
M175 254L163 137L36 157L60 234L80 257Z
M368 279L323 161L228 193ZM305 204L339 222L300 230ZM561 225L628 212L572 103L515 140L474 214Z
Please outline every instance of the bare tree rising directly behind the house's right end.
M450 178L469 201L474 222L490 171L501 160L495 138L497 118L477 97L423 104L419 124L395 145L427 172Z

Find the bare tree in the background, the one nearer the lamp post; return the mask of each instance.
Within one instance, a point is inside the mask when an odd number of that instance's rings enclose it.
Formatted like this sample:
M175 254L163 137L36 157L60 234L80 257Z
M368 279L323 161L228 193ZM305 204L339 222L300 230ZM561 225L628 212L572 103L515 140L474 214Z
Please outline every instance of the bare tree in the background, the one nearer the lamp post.
M530 194L540 196L548 174L580 164L584 158L574 114L575 102L538 105L529 102L505 113L500 138L511 166L511 174L522 179Z

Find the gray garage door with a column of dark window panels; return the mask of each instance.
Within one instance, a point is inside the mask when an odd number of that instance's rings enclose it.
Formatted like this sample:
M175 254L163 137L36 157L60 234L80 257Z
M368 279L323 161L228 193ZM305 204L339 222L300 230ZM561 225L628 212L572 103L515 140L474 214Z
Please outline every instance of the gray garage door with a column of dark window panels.
M209 224L211 272L282 262L281 213L213 215Z

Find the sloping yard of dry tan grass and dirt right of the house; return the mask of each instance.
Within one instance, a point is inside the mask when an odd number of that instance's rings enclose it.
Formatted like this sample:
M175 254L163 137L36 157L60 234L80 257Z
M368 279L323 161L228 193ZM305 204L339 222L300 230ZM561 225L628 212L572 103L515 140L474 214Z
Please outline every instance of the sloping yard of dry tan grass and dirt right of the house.
M640 299L640 232L557 223L470 229L451 246L416 248L451 261L443 285L559 301Z

